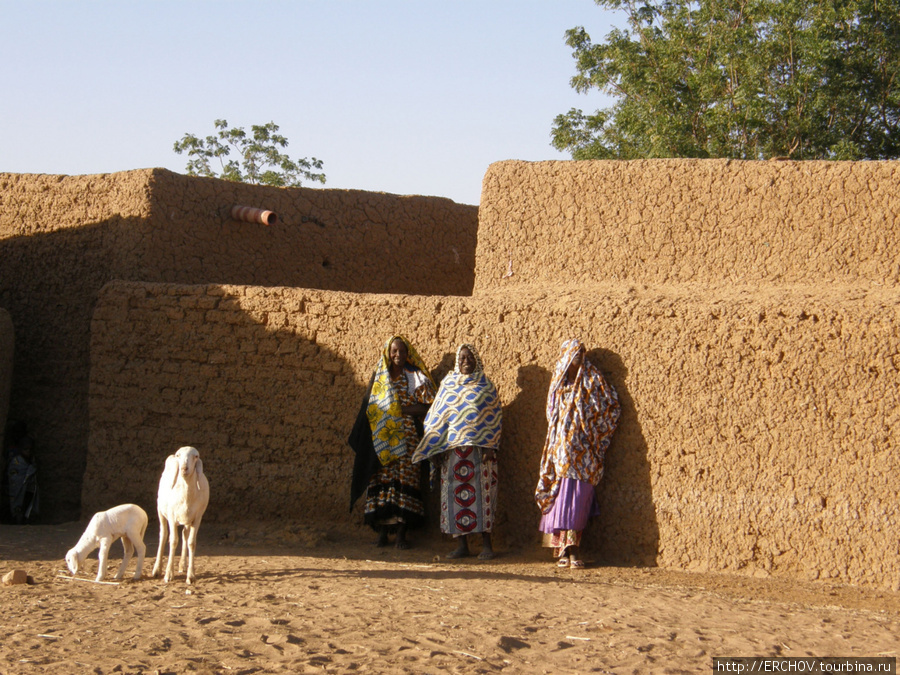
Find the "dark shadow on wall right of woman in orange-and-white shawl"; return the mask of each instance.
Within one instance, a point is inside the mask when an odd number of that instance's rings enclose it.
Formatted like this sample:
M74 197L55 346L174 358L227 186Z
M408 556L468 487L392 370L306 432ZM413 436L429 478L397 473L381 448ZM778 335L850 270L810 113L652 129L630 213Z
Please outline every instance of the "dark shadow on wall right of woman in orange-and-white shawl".
M628 368L608 349L591 349L588 360L619 396L622 416L606 451L606 468L597 499L600 517L585 532L585 550L609 565L655 566L659 524L653 505L650 461L634 400L626 386Z

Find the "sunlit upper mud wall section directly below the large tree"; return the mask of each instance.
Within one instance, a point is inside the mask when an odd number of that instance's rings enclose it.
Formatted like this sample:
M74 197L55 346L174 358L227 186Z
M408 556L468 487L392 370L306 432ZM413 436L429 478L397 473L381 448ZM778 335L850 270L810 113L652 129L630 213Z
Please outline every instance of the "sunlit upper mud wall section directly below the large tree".
M476 289L900 283L897 162L498 162Z

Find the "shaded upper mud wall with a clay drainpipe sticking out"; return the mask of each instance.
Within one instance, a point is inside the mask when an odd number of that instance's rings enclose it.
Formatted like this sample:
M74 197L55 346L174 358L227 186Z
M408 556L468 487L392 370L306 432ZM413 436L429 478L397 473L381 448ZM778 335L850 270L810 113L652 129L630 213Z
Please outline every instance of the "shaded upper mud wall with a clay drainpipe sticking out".
M156 170L129 276L175 283L471 295L478 208L442 197L271 188ZM272 210L237 222L235 204Z

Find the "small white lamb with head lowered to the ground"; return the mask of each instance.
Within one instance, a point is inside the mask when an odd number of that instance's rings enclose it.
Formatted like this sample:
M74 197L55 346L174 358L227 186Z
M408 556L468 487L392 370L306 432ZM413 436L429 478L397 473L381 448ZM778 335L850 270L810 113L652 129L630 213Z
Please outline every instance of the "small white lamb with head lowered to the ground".
M122 504L114 506L108 511L95 513L87 529L81 535L81 539L75 544L75 548L66 553L66 565L69 571L75 575L84 564L84 559L95 548L100 548L97 562L97 581L102 581L106 575L106 561L109 558L109 547L116 539L122 539L122 547L125 555L122 564L116 573L116 579L125 576L125 568L131 555L137 549L137 569L134 571L135 580L141 578L144 568L144 554L147 547L144 546L144 532L147 531L147 512L136 504Z

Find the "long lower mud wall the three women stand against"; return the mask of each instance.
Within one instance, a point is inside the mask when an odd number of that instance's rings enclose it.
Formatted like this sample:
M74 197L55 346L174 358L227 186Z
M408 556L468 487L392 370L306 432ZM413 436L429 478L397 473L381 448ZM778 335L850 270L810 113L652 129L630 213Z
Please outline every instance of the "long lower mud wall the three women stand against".
M114 283L92 324L83 504L152 510L165 456L193 444L210 519L360 519L346 437L379 349L403 333L438 377L457 343L479 346L504 403L496 536L536 546L544 401L578 335L623 405L592 555L896 589L898 325L883 288L425 298Z

